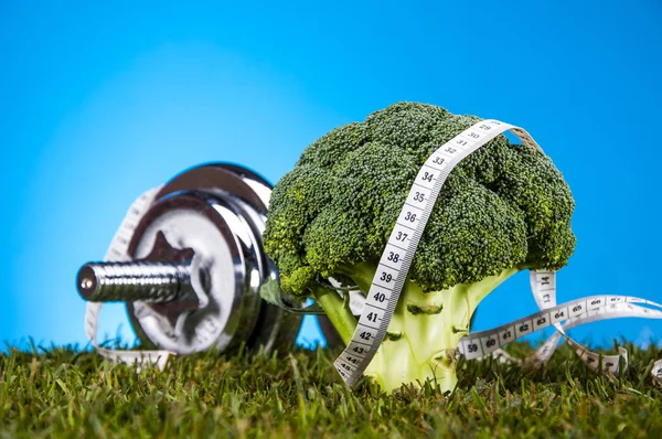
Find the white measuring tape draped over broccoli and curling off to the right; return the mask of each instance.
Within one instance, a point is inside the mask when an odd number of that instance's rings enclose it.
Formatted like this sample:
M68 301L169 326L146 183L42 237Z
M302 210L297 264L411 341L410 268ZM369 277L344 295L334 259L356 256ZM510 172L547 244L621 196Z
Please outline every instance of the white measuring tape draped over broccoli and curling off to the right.
M463 158L506 130L517 136L524 146L542 151L524 129L488 119L474 124L444 143L418 171L380 259L352 340L333 363L348 386L354 386L361 378L386 335L414 254L446 179ZM503 345L554 325L556 332L538 349L533 357L534 362L546 362L563 336L591 368L597 370L601 364L605 372L617 374L620 358L627 366L627 352L623 349L619 349L618 355L600 356L568 338L564 330L619 317L662 319L662 311L640 306L643 303L662 308L661 304L633 297L596 296L556 306L556 274L553 271L531 271L531 286L536 303L543 311L462 338L458 354L467 360L499 355L503 361L515 362L515 358L501 350ZM562 326L560 322L565 324ZM652 374L658 383L662 382L662 360L654 364Z

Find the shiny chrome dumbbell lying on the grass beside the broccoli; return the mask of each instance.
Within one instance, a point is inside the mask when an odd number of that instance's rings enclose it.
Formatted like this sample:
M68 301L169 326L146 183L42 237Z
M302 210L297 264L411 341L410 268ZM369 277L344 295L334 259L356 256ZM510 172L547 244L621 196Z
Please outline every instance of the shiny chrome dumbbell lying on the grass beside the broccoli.
M242 343L291 349L301 318L259 297L278 276L261 242L270 193L265 179L234 164L177 175L131 231L131 260L84 265L79 295L126 302L143 346L183 355Z

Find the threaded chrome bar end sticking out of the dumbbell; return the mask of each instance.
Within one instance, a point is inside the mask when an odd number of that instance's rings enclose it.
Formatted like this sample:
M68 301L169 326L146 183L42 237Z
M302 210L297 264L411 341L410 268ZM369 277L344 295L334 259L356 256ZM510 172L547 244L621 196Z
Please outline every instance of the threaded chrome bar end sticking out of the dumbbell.
M92 302L197 300L188 264L88 263L78 270L77 289L84 300Z

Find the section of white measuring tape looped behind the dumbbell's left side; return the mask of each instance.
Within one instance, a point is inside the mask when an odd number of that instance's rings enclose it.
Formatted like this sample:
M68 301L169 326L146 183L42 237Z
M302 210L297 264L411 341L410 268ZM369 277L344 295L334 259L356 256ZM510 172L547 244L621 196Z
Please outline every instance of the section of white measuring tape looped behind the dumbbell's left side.
M140 195L125 216L119 229L115 234L110 247L106 253L105 261L129 261L131 258L128 255L129 243L136 226L148 211L149 206L154 200L156 194L160 188L152 189ZM138 370L142 365L153 364L160 371L166 367L168 357L172 352L169 351L116 351L99 346L97 342L97 325L99 313L102 312L100 302L87 302L87 309L85 312L85 332L87 338L104 358L109 360L114 363L126 363L135 364Z

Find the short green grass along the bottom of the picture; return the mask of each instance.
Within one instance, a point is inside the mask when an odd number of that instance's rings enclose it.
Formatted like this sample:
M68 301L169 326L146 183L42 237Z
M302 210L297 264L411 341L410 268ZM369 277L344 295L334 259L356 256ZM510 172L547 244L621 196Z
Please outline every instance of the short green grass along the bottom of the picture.
M658 349L619 379L567 349L543 370L460 363L458 388L386 396L340 382L329 351L177 357L137 373L73 349L0 355L0 437L662 438ZM510 351L531 347L515 345Z

